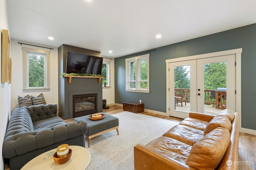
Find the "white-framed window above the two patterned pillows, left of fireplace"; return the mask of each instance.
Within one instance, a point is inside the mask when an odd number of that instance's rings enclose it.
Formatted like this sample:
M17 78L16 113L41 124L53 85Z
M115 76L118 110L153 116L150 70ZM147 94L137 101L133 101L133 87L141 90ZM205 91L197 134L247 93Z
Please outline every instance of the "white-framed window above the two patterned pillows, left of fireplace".
M22 47L23 90L50 90L50 51Z

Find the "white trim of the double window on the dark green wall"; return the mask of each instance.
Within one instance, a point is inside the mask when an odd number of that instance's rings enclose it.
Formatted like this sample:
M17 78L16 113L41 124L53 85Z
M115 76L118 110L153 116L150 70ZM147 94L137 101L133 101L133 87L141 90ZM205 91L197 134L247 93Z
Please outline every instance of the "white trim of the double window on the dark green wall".
M147 59L148 61L148 75L147 75L147 82L148 82L148 88L147 89L140 89L140 61L142 59ZM135 61L136 62L136 78L135 78L135 87L136 88L130 88L130 62L133 62ZM126 92L139 92L139 93L149 93L150 90L149 90L149 54L145 54L145 55L140 55L140 56L136 56L136 57L132 57L132 58L128 58L128 59L125 59L125 62L126 62L126 67L125 67L125 70L126 70Z

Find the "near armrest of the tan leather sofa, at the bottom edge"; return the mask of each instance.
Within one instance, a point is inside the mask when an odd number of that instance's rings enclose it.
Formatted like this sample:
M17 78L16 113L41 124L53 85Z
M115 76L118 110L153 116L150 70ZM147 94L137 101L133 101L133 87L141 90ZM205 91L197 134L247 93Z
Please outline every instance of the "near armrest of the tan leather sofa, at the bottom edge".
M196 170L144 145L134 147L134 170Z

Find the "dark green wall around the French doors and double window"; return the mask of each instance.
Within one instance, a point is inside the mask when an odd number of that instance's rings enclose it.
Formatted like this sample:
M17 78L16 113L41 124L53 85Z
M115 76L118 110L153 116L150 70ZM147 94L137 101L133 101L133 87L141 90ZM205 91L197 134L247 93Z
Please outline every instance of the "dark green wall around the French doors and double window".
M115 59L115 102L139 102L166 112L166 59L242 48L242 127L256 130L256 23L156 48L150 52L150 93L125 91L125 59ZM141 53L141 52L140 52Z

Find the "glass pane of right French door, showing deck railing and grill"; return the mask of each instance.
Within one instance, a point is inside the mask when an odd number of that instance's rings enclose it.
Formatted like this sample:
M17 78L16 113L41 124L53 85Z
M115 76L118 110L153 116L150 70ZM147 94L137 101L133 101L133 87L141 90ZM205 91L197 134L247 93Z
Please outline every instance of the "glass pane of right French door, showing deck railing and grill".
M227 63L204 64L204 113L217 114L226 109Z

